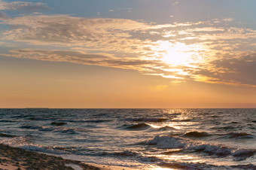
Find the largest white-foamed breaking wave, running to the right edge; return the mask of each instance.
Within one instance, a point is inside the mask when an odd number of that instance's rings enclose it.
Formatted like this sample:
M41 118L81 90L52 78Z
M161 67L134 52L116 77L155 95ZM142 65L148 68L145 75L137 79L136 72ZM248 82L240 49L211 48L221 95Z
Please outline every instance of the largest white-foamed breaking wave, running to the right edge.
M223 145L204 144L194 142L186 138L172 135L156 135L145 144L155 145L160 149L182 149L187 152L208 153L215 156L233 156L234 160L239 161L253 156L256 153L254 149L237 149L225 147ZM181 151L182 151L181 150Z

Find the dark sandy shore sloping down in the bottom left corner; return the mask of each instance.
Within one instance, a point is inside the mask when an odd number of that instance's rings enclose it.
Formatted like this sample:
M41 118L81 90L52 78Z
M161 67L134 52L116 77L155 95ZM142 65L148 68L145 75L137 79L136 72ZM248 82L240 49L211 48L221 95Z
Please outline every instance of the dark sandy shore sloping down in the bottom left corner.
M96 166L0 144L0 169L123 169Z

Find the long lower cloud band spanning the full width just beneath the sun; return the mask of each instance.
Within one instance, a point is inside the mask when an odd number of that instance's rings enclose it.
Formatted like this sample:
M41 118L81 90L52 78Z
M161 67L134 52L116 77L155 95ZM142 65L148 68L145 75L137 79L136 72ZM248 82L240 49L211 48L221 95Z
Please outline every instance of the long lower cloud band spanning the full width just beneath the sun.
M218 83L235 86L256 87L256 53L233 59L215 59L197 68L171 66L161 60L129 58L108 53L84 53L73 50L11 50L5 56L38 59L53 62L73 62L84 65L100 65L114 68L134 69L142 74L161 76L175 80L196 80L205 83Z

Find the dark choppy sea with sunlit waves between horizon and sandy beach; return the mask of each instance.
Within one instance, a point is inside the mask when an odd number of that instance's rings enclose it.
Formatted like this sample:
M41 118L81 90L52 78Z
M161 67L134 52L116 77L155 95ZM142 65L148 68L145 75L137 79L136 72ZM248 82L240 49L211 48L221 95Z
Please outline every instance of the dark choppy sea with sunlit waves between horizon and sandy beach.
M136 169L256 169L256 109L0 109L0 143Z

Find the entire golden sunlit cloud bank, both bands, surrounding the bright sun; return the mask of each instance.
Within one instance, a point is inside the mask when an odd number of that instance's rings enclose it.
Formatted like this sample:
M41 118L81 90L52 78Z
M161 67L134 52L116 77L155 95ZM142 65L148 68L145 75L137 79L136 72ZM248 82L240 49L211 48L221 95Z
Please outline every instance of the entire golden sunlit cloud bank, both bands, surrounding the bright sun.
M11 50L5 56L254 87L256 52L251 45L256 44L256 31L229 26L229 22L232 20L157 25L142 20L23 15L3 20L12 29L1 36L29 44L29 48ZM39 50L38 45L53 50Z

